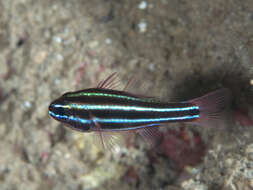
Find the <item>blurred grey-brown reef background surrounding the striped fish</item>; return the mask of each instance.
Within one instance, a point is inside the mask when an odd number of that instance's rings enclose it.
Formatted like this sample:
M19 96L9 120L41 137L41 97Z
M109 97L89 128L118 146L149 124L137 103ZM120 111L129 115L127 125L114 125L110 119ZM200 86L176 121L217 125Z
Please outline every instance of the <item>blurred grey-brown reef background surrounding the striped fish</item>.
M229 88L231 121L111 153L49 117L115 71L168 101ZM0 77L1 190L253 189L252 0L1 0Z

